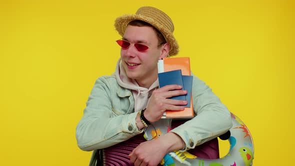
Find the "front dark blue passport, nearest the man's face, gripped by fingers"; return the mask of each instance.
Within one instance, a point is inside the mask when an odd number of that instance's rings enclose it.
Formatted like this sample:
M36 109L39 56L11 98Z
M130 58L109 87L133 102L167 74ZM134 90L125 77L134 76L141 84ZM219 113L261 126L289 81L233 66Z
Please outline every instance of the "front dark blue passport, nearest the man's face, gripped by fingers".
M158 73L158 79L159 79L159 87L163 87L169 84L178 84L182 86L182 90L184 89L182 74L180 69ZM173 97L170 97L170 99L185 100L185 95L173 96Z

